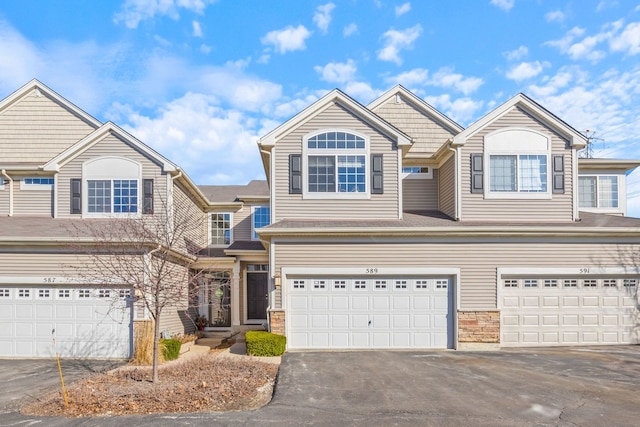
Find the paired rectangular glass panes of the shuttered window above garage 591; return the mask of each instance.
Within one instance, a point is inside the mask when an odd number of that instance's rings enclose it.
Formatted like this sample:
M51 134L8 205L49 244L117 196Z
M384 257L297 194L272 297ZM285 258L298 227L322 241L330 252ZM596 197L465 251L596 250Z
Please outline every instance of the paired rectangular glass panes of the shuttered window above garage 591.
M546 193L546 155L491 155L489 190L492 192Z

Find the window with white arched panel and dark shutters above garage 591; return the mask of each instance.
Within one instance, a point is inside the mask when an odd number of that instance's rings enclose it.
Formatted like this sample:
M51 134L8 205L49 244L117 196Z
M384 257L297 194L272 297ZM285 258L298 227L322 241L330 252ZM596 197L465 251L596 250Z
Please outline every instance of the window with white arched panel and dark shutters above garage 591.
M484 137L484 153L471 155L471 192L485 198L550 198L564 192L564 156L531 129L506 128Z

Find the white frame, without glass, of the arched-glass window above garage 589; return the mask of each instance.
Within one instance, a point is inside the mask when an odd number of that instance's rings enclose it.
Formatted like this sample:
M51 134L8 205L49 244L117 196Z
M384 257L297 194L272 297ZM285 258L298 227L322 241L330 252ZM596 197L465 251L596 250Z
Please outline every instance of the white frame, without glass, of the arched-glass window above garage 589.
M364 148L309 148L309 140L315 136L326 133L345 133L354 135L364 140ZM360 132L351 129L327 128L321 129L302 138L302 198L304 199L370 199L371 198L371 160L370 160L370 138ZM309 158L310 157L333 157L334 158L334 177L335 191L332 192L315 192L309 191ZM338 191L338 158L339 156L361 156L364 161L364 191L362 192L341 192Z

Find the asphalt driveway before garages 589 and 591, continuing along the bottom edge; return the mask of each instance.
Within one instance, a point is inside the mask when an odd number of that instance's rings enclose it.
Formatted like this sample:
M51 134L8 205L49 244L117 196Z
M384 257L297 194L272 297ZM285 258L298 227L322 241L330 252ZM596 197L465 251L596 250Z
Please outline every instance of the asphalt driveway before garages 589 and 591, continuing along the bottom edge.
M256 411L84 420L3 411L0 424L636 426L638 408L640 346L304 352L284 356L273 400Z

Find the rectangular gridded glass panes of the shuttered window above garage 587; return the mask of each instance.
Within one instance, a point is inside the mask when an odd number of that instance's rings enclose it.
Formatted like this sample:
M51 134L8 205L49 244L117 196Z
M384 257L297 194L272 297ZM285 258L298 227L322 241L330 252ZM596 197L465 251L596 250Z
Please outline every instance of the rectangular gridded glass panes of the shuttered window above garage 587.
M89 180L87 189L89 213L138 212L137 180Z

